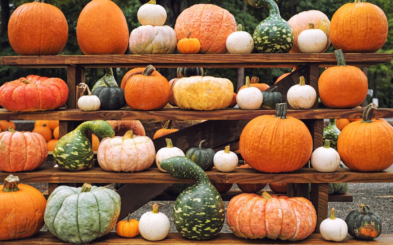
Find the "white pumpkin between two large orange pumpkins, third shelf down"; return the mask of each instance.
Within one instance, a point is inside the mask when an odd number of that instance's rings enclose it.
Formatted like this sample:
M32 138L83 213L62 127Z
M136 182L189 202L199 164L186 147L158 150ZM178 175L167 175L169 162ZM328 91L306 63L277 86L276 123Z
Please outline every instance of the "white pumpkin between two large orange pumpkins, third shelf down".
M330 147L330 140L311 154L311 165L318 172L331 173L340 166L340 155Z

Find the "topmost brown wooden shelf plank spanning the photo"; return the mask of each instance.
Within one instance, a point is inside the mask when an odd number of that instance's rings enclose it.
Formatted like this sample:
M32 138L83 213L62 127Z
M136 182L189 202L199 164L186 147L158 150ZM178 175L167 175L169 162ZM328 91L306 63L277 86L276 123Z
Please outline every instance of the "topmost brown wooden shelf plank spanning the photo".
M391 53L344 53L347 64L371 66L391 61ZM29 68L81 67L293 67L318 63L336 65L334 53L172 54L172 55L55 55L2 56L1 64Z

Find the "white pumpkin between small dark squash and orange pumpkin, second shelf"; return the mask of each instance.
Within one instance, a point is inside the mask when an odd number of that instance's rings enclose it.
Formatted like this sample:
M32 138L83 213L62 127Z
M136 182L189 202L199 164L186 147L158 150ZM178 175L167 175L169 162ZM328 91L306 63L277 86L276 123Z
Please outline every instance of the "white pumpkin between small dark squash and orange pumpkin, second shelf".
M315 89L305 85L304 77L299 77L299 84L289 88L286 100L293 109L310 109L317 98Z

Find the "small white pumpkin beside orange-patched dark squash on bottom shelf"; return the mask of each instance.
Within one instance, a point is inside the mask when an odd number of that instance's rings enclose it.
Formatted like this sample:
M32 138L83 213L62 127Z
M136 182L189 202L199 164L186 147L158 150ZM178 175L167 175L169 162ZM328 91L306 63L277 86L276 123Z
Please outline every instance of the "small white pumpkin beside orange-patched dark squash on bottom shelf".
M347 237L348 226L345 221L334 216L334 208L330 211L330 219L325 219L320 225L321 236L328 241L342 241Z

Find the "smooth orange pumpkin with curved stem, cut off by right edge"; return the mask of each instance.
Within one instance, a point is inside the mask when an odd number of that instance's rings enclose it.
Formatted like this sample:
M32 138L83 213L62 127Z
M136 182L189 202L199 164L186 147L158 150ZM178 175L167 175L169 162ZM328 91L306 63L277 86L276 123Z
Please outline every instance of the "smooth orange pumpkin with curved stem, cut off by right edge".
M355 171L382 171L393 164L393 127L372 120L376 105L367 105L363 120L351 122L338 136L337 148L342 162Z

